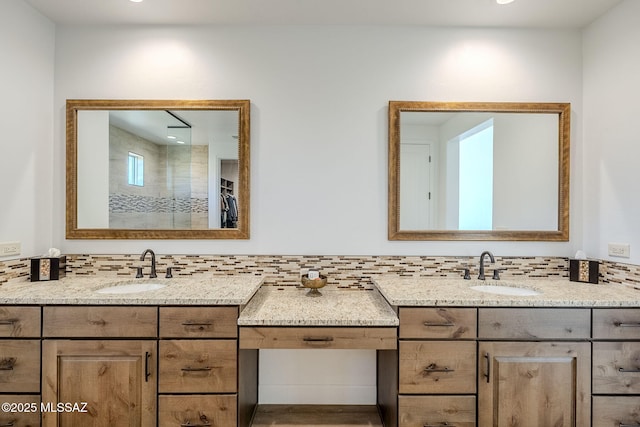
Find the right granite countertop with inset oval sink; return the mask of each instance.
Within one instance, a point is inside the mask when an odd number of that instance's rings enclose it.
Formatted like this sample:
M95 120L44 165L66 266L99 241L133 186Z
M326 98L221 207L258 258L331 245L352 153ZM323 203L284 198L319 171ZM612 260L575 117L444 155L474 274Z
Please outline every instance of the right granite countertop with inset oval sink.
M463 307L640 307L640 289L625 284L581 283L569 279L481 281L380 276L374 283L393 306ZM507 296L470 289L476 285L526 287L534 296Z

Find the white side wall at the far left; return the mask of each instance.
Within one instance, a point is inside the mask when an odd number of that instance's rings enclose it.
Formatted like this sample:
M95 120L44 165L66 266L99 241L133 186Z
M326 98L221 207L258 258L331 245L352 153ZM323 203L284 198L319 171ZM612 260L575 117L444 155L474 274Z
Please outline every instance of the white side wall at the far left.
M54 40L22 0L0 2L0 242L21 242L21 257L52 242Z

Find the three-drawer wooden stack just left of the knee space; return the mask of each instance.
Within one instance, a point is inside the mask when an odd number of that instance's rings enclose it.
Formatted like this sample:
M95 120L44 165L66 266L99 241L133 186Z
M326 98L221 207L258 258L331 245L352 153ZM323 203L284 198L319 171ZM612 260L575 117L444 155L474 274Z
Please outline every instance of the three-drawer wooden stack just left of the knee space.
M238 423L238 314L237 307L160 307L160 427Z

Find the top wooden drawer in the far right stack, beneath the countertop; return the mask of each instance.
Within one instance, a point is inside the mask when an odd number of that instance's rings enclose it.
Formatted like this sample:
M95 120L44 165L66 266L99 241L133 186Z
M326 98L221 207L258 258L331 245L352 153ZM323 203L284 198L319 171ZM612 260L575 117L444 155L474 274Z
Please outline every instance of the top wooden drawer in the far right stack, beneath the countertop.
M594 309L593 338L640 339L640 309Z

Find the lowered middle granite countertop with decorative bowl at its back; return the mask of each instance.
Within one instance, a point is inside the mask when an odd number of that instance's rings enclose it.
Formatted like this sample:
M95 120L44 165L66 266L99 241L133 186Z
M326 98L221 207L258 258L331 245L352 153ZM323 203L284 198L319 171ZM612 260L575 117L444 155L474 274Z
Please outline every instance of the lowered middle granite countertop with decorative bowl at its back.
M398 326L398 316L376 289L322 288L320 297L306 288L264 286L242 310L240 326Z

